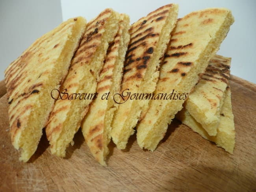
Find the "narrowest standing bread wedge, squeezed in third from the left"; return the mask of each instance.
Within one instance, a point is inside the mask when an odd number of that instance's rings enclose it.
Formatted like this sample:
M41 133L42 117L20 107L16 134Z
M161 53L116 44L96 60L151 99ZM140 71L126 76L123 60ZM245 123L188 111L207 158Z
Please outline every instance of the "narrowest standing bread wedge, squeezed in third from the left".
M91 103L82 124L82 132L95 159L106 166L111 140L111 122L117 103L113 95L120 91L124 57L130 41L130 18L121 14L119 31L108 48L104 67L97 84L98 97Z

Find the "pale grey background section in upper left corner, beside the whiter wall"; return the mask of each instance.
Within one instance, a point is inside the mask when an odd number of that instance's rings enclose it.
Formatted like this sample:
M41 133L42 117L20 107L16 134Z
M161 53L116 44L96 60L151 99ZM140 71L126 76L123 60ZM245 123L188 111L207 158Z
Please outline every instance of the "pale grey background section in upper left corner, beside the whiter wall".
M60 0L0 0L0 80L12 61L61 22Z

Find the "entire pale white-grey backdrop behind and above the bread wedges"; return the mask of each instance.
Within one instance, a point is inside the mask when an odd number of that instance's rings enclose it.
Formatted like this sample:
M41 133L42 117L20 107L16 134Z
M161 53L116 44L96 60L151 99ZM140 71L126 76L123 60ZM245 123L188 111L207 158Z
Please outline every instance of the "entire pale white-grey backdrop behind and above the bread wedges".
M19 9L10 6L3 8L2 1L0 3L0 79L4 78L4 69L9 63L16 59L36 37L40 37L57 26L61 18L59 6L61 6L63 20L81 15L89 21L103 9L110 7L120 13L130 15L131 23L133 23L160 6L177 3L179 4L178 17L207 7L226 7L232 10L235 22L217 54L232 57L231 74L256 83L255 0L61 0L60 2L54 0L28 4L29 10L21 7L27 1L16 2L20 2L17 6ZM31 2L35 1L31 0ZM2 17L2 11L4 11L4 17ZM21 13L23 15L20 15ZM21 21L26 21L26 25L22 26ZM33 21L33 24L28 25L28 21ZM31 38L29 39L28 36Z

